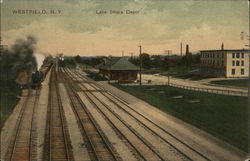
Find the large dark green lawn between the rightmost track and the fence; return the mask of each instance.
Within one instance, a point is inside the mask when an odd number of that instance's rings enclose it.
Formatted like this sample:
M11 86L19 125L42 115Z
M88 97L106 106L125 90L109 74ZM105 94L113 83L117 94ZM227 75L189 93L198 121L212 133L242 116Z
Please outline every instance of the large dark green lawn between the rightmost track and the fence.
M169 86L120 86L160 110L249 152L248 100ZM183 98L173 98L183 96ZM164 101L163 101L164 100ZM190 103L199 100L197 103Z

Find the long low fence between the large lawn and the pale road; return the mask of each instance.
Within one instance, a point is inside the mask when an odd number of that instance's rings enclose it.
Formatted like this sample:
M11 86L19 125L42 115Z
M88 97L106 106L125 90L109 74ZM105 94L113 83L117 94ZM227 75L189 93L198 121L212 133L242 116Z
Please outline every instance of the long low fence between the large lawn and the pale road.
M139 84L122 84L124 86L138 86ZM151 86L151 85L169 85L171 87L176 88L182 88L186 90L192 90L192 91L199 91L199 92L207 92L207 93L215 93L215 94L221 94L221 95L230 95L230 96L242 96L242 97L248 97L248 92L243 91L234 91L234 90L225 90L225 89L213 89L213 88L201 88L201 87L193 87L193 86L184 86L184 85L178 85L167 82L160 82L160 83L142 83L143 86Z

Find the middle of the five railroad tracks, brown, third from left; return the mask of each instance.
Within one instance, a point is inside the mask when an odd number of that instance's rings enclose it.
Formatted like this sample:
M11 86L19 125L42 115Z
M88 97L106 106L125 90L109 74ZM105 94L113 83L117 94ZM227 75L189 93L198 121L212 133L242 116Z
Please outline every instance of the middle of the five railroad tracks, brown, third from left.
M62 73L61 73L62 74ZM118 161L121 160L119 155L114 151L112 145L104 136L101 128L96 123L91 113L86 109L81 99L75 92L72 82L65 75L62 77L65 81L65 87L69 95L71 105L78 123L84 142L88 149L90 158L96 161Z

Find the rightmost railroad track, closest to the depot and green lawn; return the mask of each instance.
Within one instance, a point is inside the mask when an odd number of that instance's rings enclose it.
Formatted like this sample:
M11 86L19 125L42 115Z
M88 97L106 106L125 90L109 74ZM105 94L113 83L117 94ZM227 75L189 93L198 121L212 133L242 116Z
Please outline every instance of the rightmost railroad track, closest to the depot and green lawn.
M116 104L117 107L119 107L125 113L127 113L132 118L134 118L137 122L139 122L144 128L146 128L152 134L159 137L165 143L167 143L172 148L174 148L178 153L183 155L187 160L207 160L207 161L210 161L210 159L208 157L206 157L204 154L202 154L199 151L195 150L194 148L192 148L191 146L186 144L184 141L179 139L177 136L175 136L171 132L169 132L166 129L160 127L158 124L154 123L152 120L148 119L147 117L145 117L144 115L142 115L141 113L136 111L134 108L132 108L130 105L128 105L128 103L123 101L121 98L119 98L117 96L114 96L110 92L103 92L103 89L101 87L97 87L96 84L93 83L93 81L91 81L90 79L84 77L80 73L74 72L74 74L81 77L84 81L89 80L89 82L91 82L89 84L94 89L96 89L97 91L100 91L100 93L103 96L105 96L106 98L108 98L109 101ZM96 99L98 99L98 98L96 97ZM178 145L178 147L176 147L175 145Z

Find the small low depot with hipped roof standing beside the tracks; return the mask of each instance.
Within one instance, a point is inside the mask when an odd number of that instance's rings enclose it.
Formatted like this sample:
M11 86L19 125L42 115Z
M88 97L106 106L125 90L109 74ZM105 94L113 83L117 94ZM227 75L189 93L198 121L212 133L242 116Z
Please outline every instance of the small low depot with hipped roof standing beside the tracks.
M127 58L109 57L98 66L99 73L108 80L128 83L137 80L139 68Z

